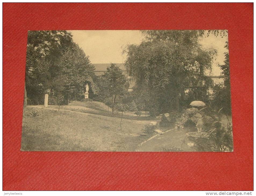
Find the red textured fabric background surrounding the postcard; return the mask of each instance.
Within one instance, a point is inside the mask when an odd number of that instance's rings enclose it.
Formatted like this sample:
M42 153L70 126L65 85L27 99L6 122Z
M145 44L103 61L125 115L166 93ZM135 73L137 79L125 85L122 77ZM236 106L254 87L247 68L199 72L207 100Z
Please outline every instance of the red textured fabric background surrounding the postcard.
M28 30L227 29L233 153L21 152ZM3 3L3 190L253 190L253 3Z

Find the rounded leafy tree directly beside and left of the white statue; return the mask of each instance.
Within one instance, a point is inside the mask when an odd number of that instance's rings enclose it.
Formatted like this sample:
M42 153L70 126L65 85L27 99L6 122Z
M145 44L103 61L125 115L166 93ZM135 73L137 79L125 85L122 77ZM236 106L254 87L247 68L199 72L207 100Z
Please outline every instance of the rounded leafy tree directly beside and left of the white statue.
M52 83L52 88L59 90L65 96L67 103L70 98L77 98L84 93L86 83L89 84L92 93L97 93L94 67L77 44L73 43L66 49L56 63L56 67L59 67L60 72Z

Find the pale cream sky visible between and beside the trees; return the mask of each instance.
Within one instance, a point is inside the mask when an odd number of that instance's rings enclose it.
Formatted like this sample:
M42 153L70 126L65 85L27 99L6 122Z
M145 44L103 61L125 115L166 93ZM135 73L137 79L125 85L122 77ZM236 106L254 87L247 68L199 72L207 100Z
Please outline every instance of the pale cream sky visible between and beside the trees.
M72 30L73 40L85 52L91 63L124 63L123 48L127 44L139 44L144 38L139 30ZM203 48L215 48L218 52L212 64L210 75L220 75L217 64L223 64L225 42L228 37L203 36L200 43Z

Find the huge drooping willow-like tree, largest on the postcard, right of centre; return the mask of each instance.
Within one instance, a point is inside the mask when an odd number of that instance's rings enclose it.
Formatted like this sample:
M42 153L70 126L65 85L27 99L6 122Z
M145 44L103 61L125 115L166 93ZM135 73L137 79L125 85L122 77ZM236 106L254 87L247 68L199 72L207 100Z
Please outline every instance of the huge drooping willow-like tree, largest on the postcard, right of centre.
M205 70L211 69L216 51L199 44L203 31L149 30L142 33L144 41L128 45L124 50L129 75L137 88L149 92L153 113L179 110L181 95L191 83L191 77L203 77Z

